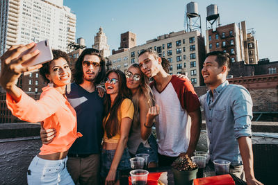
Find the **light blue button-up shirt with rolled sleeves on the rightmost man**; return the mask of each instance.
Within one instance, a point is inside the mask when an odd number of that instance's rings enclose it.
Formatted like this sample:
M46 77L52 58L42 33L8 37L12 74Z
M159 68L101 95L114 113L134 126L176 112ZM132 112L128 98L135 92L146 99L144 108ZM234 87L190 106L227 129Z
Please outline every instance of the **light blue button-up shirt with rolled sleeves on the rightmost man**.
M208 150L211 161L225 159L231 165L243 164L237 139L252 136L252 98L241 85L229 84L209 90L199 98L206 116Z

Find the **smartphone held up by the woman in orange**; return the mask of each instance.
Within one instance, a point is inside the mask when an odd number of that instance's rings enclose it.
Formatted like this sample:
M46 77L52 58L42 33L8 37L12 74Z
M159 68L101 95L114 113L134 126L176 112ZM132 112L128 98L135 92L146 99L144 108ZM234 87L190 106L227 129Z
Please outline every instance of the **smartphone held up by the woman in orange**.
M38 49L40 51L40 53L37 56L35 56L35 58L32 58L31 60L27 60L26 62L24 62L22 64L22 66L30 67L30 66L43 64L43 63L53 60L53 54L52 54L48 39L36 43L32 49L28 49L27 51L24 51L24 53L22 53L22 55L31 53L31 52L35 51L36 49ZM22 56L22 55L20 55L20 56Z

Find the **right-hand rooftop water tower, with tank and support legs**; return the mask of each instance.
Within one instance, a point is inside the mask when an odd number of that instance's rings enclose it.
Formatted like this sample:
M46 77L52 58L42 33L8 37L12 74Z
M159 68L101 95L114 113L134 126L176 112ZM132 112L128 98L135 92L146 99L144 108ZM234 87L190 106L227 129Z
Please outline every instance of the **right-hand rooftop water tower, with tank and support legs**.
M211 4L206 7L206 29L213 29L220 26L218 6Z

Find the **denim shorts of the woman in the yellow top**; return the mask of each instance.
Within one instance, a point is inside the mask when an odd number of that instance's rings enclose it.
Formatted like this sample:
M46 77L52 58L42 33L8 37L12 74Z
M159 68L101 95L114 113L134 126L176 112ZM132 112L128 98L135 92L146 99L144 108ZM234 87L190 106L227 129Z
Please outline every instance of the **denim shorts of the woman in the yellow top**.
M106 178L108 175L108 172L110 170L114 155L116 150L104 150L101 151L101 170L100 175L103 178ZM119 165L117 166L117 173L116 173L116 179L119 179L119 170L129 169L131 168L130 164L130 155L129 150L127 148L124 149L124 153L122 154L122 158L120 160Z

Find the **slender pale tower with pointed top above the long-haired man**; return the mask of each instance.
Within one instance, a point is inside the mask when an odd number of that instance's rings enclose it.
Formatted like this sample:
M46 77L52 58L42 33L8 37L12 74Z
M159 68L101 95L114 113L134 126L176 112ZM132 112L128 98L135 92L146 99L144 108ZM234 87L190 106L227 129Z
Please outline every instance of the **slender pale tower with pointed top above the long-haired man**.
M92 45L92 48L99 50L104 58L107 58L110 55L109 45L107 44L107 37L101 27L99 28L99 32L95 36L95 42L94 45Z

